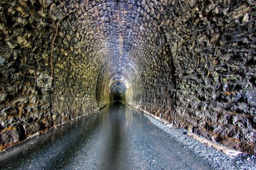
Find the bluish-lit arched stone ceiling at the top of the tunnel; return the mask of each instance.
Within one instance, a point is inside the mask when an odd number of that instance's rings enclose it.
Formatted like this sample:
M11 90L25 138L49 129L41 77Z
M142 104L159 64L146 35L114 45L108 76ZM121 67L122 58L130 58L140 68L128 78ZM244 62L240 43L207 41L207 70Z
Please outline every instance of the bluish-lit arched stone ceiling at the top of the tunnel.
M91 55L91 63L103 68L107 78L122 72L132 80L139 73L138 67L153 60L152 54L164 39L156 2L78 1L76 7L73 28L77 44Z

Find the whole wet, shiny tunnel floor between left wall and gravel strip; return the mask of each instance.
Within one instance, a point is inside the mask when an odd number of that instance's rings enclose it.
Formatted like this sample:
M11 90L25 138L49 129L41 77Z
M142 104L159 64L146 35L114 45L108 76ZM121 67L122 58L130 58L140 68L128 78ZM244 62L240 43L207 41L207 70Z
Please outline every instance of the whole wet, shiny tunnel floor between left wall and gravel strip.
M0 169L209 170L142 113L115 103L0 153Z

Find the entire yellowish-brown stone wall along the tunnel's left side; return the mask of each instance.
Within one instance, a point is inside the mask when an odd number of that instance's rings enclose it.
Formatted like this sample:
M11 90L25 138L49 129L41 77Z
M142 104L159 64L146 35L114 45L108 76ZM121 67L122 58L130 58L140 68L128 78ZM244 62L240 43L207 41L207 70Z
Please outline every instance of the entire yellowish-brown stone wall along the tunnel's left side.
M0 2L0 149L97 109L97 67L77 45L76 9L61 1ZM58 6L58 7L57 7Z

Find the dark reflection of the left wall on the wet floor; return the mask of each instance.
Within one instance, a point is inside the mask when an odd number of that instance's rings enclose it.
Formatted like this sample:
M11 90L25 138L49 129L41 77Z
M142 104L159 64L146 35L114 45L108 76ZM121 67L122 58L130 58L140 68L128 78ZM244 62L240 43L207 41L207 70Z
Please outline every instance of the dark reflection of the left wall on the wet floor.
M94 133L100 114L64 124L0 152L0 169L22 169L24 163L29 164L29 169L38 169L42 166L38 161L43 161L44 169L53 169L58 163L65 164L63 158L71 157L75 148ZM36 160L37 158L41 159Z

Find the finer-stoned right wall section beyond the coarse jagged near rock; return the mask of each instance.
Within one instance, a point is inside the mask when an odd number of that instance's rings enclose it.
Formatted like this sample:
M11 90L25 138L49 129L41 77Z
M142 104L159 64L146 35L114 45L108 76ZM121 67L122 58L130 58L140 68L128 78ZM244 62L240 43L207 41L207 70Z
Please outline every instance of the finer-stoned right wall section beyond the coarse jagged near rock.
M133 99L129 104L171 121L175 105L175 78L166 39L160 40L152 56L153 59L142 67L140 78L132 82Z

